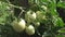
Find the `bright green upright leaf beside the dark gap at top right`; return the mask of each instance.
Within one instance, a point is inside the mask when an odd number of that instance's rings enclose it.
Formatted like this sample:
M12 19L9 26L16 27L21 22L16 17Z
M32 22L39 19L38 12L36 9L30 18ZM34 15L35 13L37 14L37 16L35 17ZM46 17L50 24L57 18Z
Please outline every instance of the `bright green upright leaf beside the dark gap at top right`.
M56 2L55 1L51 1L48 3L48 10L51 13L51 15L57 15L56 13Z

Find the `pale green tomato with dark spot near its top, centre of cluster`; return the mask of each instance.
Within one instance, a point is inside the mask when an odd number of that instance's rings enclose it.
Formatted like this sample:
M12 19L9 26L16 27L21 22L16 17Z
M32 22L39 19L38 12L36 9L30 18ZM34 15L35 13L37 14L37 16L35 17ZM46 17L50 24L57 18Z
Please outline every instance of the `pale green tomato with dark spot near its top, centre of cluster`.
M27 21L27 23L31 23L36 20L36 13L31 10L27 11L27 13L25 14L25 20Z

